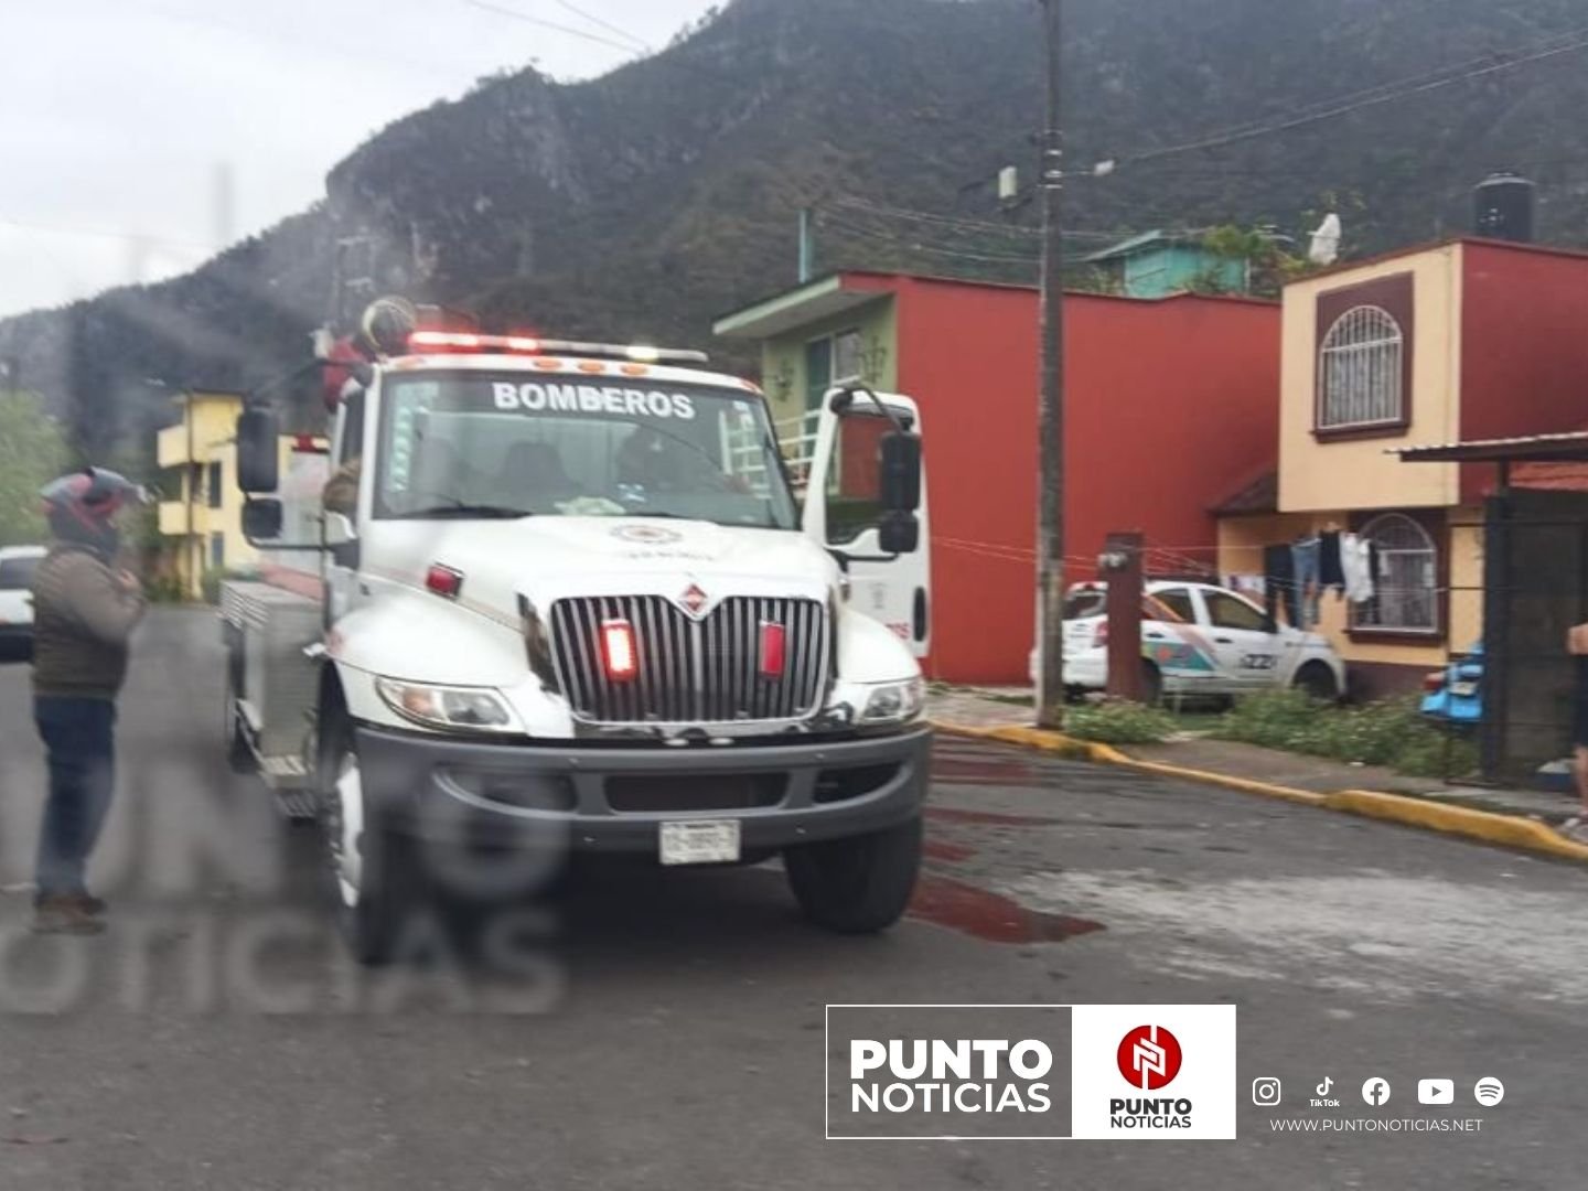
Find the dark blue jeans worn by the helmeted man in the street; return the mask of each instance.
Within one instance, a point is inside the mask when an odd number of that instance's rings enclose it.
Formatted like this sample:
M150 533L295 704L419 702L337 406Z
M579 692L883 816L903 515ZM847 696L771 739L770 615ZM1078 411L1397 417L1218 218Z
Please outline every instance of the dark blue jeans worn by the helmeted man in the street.
M49 753L37 899L87 892L84 872L116 789L116 703L40 696L33 723Z

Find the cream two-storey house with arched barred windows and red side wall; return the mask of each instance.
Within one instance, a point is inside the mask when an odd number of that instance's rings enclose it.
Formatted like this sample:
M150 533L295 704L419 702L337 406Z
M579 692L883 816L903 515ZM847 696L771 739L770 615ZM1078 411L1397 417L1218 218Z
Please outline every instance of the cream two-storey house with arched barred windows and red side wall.
M1324 530L1370 543L1375 594L1320 629L1359 694L1413 688L1483 635L1490 468L1397 449L1588 424L1588 256L1451 240L1285 289L1278 472L1220 515L1220 572ZM1272 556L1269 556L1272 557Z

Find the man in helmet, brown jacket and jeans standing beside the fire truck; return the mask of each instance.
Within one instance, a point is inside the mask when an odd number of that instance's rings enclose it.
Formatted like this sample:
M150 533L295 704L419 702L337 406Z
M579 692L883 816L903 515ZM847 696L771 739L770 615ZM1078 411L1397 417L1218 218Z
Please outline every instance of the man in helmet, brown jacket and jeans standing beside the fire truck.
M145 611L137 578L116 565L116 515L146 497L97 467L40 495L54 542L33 576L33 721L49 754L33 929L100 934L105 904L86 870L116 788L116 696Z

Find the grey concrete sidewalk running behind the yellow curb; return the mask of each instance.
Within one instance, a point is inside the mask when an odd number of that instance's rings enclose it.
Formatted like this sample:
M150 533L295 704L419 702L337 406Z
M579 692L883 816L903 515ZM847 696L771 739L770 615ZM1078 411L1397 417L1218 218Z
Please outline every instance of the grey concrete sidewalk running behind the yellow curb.
M1031 727L1032 708L1027 702L1021 702L1029 697L1029 688L997 688L992 691L939 688L929 692L926 707L927 715L945 726ZM1256 784L1313 794L1380 791L1450 807L1513 815L1551 827L1578 813L1577 799L1571 794L1448 784L1439 778L1410 778L1378 765L1353 765L1199 735L1183 735L1161 745L1124 745L1116 746L1116 751L1132 761L1197 770Z

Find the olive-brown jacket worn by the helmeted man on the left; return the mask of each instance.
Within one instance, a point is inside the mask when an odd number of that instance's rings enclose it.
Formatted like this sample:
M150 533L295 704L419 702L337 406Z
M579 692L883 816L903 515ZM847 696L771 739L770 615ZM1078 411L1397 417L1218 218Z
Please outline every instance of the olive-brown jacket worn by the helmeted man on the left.
M97 554L52 546L33 575L33 694L114 699L145 608Z

